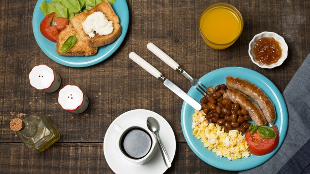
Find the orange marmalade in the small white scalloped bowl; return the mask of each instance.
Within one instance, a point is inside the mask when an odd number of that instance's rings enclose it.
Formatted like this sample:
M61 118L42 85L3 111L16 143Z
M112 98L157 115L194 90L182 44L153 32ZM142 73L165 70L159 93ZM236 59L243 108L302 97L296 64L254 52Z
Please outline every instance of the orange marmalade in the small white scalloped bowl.
M265 65L276 63L282 56L280 43L274 38L261 38L253 47L255 60Z

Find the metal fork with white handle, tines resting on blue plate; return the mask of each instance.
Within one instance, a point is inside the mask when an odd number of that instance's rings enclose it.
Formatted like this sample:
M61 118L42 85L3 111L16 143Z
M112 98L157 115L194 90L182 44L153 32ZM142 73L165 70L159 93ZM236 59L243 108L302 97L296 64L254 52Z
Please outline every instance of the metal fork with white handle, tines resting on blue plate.
M164 53L161 49L159 49L155 44L149 43L147 44L147 48L153 52L158 58L160 58L163 62L165 62L168 66L170 66L172 69L176 70L180 74L182 74L184 77L186 77L188 80L190 80L191 85L195 87L201 94L203 94L205 97L208 97L207 91L208 88L202 84L198 79L193 79L176 61L174 61L170 56L168 56L166 53ZM210 92L211 93L211 92Z

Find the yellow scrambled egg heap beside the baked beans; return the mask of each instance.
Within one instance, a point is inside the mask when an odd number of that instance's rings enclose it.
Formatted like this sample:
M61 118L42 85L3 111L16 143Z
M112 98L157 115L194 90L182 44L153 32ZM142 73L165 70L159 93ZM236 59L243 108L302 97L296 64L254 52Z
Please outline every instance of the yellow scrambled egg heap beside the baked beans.
M219 125L208 123L203 111L195 111L193 114L193 135L200 139L206 148L212 150L219 157L229 160L250 156L249 146L245 136L237 130L224 132Z

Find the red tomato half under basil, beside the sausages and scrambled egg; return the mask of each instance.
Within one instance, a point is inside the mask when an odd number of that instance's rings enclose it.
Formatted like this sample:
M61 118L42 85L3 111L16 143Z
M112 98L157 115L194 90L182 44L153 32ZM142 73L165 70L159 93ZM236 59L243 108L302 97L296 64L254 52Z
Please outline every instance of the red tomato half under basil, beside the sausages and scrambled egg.
M279 143L279 131L277 126L271 127L277 134L274 138L264 138L258 134L258 131L246 131L246 141L249 150L253 155L265 155L272 152Z

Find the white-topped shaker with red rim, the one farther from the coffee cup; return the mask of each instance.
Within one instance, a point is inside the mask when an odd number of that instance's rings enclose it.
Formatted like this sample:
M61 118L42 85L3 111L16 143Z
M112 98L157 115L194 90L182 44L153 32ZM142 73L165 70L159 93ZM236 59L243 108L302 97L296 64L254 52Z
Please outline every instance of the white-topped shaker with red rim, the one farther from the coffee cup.
M54 92L61 84L60 76L46 65L33 67L29 73L30 85L44 92Z

